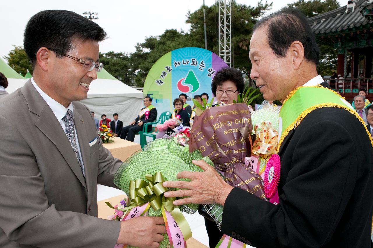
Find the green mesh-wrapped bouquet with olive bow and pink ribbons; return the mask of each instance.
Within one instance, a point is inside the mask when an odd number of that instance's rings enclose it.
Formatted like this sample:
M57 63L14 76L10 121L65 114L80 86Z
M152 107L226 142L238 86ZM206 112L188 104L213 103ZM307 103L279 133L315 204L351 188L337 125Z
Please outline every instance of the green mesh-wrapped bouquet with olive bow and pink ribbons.
M174 206L172 202L176 199L165 198L163 193L175 189L163 187L162 182L186 181L188 179L176 178L178 172L201 171L201 168L192 164L192 160L204 159L213 165L209 158L203 158L200 152L189 153L185 139L189 135L188 129L179 128L172 139L156 139L149 142L144 151L134 153L123 162L115 174L114 183L128 195L129 201L126 204L121 201L121 206L118 204L114 207L107 203L115 209L114 215L109 216L110 219L123 221L145 215L163 216L167 233L160 242L161 248L186 247L185 241L192 233L182 212L193 214L198 209L197 204ZM181 142L181 139L185 141ZM176 233L179 234L177 238Z

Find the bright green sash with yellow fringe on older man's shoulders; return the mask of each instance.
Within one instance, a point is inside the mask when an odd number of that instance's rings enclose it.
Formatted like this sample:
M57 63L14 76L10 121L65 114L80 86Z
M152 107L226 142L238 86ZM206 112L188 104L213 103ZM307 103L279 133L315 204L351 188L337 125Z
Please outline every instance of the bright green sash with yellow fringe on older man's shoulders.
M306 115L317 108L334 107L346 109L351 114L355 115L361 121L367 131L370 142L373 146L372 137L363 121L352 106L338 93L331 89L327 89L321 85L317 86L301 86L290 92L280 110L279 119L279 135L280 140L277 146L279 152L281 144L289 132L297 128Z

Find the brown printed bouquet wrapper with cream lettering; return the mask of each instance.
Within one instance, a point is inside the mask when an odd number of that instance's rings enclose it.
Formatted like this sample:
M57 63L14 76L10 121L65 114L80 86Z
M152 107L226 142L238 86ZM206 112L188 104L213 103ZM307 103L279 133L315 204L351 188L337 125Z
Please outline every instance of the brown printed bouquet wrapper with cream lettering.
M251 154L250 111L245 103L214 106L194 117L189 152L208 156L225 181L266 200L261 177L244 164Z

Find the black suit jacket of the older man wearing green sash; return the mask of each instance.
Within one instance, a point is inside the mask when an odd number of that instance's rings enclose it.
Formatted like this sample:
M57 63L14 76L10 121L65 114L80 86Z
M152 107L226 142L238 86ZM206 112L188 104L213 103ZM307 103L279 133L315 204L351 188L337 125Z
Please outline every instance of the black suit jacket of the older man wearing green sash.
M280 204L234 188L222 232L254 247L370 247L373 148L361 122L344 109L316 109L279 156Z

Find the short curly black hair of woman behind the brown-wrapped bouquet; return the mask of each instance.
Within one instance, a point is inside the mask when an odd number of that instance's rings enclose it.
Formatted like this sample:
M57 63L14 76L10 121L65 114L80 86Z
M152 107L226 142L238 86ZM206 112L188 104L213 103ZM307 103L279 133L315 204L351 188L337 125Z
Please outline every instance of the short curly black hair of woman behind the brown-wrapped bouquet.
M241 71L231 67L224 67L217 71L212 80L211 91L214 96L216 96L217 86L222 86L223 83L228 80L232 81L236 85L238 93L242 93L244 91L245 82Z

